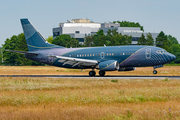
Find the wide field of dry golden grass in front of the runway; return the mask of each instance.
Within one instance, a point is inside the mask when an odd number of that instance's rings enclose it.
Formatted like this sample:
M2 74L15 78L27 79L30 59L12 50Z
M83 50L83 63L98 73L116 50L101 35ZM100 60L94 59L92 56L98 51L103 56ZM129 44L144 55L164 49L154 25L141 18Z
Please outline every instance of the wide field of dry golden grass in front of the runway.
M180 119L179 80L0 78L0 119Z

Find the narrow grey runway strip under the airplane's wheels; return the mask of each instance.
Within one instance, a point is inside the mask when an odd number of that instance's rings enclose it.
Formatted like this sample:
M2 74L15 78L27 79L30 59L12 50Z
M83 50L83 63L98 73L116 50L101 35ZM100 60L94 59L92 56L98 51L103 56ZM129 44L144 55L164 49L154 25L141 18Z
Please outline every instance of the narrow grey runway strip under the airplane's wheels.
M88 75L0 75L0 77L45 77L45 78L93 78L93 79L163 79L163 78L169 78L169 79L180 79L180 76L95 76L95 77L89 77Z

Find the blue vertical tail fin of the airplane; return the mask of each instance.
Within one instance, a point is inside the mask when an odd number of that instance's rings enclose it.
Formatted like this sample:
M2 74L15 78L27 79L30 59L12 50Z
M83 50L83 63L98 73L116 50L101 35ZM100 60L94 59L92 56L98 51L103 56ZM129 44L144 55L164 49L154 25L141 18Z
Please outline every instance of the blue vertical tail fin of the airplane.
M63 48L61 46L49 44L29 22L28 19L21 19L21 24L29 51L50 48Z

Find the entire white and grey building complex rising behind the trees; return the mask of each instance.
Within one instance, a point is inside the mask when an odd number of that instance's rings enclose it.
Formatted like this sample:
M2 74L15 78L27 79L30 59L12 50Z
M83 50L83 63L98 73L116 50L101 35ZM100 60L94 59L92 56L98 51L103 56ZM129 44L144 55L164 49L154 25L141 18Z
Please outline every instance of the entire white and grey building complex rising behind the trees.
M59 27L53 28L53 38L56 36L67 34L79 40L83 44L84 37L94 35L98 30L102 29L104 34L107 34L108 29L117 29L122 35L132 36L132 44L136 45L143 32L140 27L121 27L119 23L94 23L89 19L73 19L66 23L60 23ZM158 33L151 33L155 40Z

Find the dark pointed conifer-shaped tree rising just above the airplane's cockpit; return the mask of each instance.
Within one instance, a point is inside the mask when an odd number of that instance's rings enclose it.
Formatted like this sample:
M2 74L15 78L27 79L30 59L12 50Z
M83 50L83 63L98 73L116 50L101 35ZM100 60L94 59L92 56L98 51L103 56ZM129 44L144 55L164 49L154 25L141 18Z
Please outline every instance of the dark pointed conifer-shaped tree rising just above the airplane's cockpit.
M168 44L167 36L164 34L163 31L161 31L156 38L156 46L164 48L165 50L168 51L168 45L167 44Z

